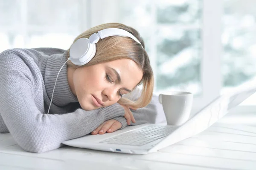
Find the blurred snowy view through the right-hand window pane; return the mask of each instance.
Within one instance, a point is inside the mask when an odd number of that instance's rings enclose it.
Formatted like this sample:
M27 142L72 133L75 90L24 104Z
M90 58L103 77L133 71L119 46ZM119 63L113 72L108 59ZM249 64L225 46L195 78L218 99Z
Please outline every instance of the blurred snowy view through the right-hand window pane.
M256 1L224 0L222 17L223 87L256 84ZM256 104L254 94L247 104Z

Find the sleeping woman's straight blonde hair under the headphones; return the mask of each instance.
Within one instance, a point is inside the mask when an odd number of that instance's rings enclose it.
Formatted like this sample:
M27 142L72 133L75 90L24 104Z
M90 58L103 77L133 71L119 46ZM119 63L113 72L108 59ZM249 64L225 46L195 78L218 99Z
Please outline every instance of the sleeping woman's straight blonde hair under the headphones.
M93 33L107 28L119 28L130 32L140 41L144 49L139 43L137 43L130 37L106 37L104 39L100 39L96 43L97 50L95 56L89 63L83 66L92 66L95 64L105 63L119 59L130 59L134 61L143 71L143 77L141 81L134 87L135 89L140 84L143 84L143 89L140 94L140 97L137 99L137 101L131 101L128 98L123 97L119 99L117 103L122 105L129 105L134 108L145 107L150 103L152 99L154 89L154 75L152 68L150 66L148 54L145 51L144 41L140 37L140 34L135 29L121 23L105 23L90 28L87 31L81 33L79 36L76 37L74 42L76 42L76 40L78 40L79 38L89 38L90 35L92 35ZM69 50L70 49L68 49L67 51L67 58L69 58ZM74 65L71 61L67 62L67 66L75 69L81 67Z

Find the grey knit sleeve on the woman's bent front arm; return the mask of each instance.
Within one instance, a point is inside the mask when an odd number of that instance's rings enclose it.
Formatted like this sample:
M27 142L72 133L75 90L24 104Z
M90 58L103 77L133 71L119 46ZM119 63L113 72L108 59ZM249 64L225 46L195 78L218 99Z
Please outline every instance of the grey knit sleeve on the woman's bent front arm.
M0 133L9 131L23 150L42 153L57 149L62 141L87 135L102 122L124 115L119 104L91 111L76 109L63 115L44 114L35 104L37 86L32 73L24 71L26 64L15 55L8 61L1 56L1 60ZM24 69L12 69L16 65Z

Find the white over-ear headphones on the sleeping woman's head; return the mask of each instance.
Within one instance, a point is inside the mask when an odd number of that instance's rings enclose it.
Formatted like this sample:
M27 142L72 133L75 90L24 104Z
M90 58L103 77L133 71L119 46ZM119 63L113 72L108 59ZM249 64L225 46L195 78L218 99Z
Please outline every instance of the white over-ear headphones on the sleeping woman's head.
M96 53L96 43L99 41L99 39L111 36L130 37L134 39L137 43L140 43L140 41L136 37L134 37L134 35L123 29L102 29L98 33L94 33L93 35L91 35L89 39L80 38L76 40L76 42L73 43L70 47L70 61L78 66L88 63L89 61L91 61Z

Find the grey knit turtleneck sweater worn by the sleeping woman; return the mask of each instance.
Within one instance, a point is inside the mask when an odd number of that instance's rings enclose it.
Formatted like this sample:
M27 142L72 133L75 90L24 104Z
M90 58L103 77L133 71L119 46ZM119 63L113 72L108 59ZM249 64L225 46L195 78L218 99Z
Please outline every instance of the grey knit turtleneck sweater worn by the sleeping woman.
M67 81L67 51L55 48L9 49L0 54L0 133L11 133L24 150L42 153L89 134L109 119L126 127L119 104L85 111ZM136 124L154 123L154 104L132 111Z

